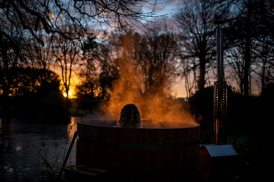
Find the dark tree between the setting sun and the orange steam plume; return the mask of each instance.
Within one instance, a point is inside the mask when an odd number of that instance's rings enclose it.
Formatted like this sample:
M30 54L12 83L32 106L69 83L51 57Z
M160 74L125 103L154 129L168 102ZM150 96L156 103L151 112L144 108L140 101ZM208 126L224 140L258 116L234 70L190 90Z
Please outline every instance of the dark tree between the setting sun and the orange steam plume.
M111 41L110 35L103 32L100 38L86 40L82 47L83 63L80 76L83 80L78 86L82 87L87 84L93 96L96 95L101 99L110 98L112 81L118 77Z

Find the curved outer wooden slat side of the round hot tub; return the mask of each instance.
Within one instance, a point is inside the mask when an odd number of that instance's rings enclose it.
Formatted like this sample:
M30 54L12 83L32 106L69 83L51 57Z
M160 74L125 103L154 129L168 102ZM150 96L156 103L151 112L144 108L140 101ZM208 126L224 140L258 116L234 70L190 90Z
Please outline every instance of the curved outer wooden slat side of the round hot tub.
M91 123L101 122L93 121ZM200 128L169 128L169 129L129 129L113 128L106 126L94 126L78 123L79 137L88 140L96 140L102 145L77 141L76 163L95 169L115 169L127 167L128 169L163 170L164 173L181 171L182 176L196 178L198 175L199 144L191 143L200 139ZM91 136L96 132L96 137ZM126 144L183 144L189 142L189 146L177 148L123 148ZM105 145L107 143L123 144ZM117 166L118 165L118 166ZM133 171L134 171L133 170Z

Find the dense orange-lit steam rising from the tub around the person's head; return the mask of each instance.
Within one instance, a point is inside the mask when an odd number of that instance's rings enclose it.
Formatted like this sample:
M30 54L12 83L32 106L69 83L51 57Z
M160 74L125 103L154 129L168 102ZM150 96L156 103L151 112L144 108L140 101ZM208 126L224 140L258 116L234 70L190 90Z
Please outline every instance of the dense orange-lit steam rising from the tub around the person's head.
M141 74L133 68L130 61L120 62L120 78L113 82L111 99L102 105L111 118L117 118L123 105L134 103L140 109L142 119L168 120L165 123L168 127L178 125L178 122L172 121L196 123L179 99L165 95L143 95L140 91L143 84Z

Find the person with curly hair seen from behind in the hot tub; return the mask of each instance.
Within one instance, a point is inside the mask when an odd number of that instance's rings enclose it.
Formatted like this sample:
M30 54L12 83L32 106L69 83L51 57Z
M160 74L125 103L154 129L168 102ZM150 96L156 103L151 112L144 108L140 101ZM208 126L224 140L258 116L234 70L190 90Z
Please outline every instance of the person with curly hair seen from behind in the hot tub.
M141 113L135 104L124 105L119 112L117 126L120 128L143 128Z

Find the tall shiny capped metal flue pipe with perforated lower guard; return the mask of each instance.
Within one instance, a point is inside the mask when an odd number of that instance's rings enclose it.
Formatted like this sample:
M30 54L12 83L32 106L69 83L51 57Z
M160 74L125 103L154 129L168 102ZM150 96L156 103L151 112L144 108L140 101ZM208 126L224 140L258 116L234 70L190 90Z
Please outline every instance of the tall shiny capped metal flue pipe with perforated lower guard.
M214 82L214 143L227 144L227 82L224 77L223 28L224 20L216 20L217 81Z

